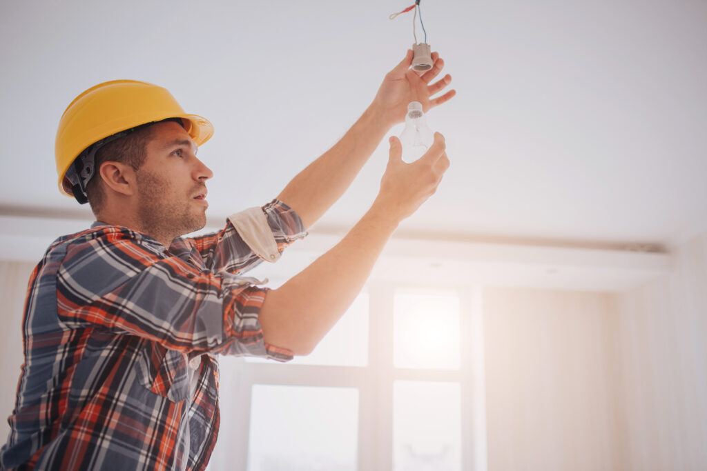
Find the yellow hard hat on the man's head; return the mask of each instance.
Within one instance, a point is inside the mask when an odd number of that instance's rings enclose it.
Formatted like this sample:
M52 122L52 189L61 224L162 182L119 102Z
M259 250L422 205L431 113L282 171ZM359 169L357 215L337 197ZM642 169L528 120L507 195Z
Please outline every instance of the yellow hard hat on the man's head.
M64 110L54 143L59 191L74 196L71 184L64 185L64 177L88 146L120 131L168 118L180 118L197 145L214 135L214 126L207 119L185 113L168 90L152 83L109 81L78 95Z

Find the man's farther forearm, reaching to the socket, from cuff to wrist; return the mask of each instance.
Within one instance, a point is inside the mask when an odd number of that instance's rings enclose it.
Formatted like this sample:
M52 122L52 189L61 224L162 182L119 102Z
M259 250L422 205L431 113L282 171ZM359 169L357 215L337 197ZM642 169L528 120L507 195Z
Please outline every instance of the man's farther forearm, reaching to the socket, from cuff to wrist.
M341 140L296 175L277 198L293 208L305 228L314 224L349 188L390 130L370 105Z

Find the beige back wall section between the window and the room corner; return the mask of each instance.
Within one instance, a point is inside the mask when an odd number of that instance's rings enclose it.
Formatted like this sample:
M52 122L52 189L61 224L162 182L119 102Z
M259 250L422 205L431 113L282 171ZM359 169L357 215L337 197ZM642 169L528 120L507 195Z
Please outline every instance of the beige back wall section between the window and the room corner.
M484 290L489 470L619 470L613 295Z

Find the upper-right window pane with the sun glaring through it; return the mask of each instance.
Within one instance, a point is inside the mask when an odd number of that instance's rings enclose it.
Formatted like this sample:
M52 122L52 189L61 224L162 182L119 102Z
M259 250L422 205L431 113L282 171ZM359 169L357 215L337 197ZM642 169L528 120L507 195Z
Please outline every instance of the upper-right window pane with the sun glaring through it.
M450 293L395 293L396 368L459 368L459 297Z

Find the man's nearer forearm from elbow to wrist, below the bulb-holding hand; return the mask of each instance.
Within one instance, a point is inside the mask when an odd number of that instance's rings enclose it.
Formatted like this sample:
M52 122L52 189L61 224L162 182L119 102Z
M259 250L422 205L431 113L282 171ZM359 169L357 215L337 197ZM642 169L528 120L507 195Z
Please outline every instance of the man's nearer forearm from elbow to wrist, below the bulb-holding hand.
M265 340L308 354L361 292L396 227L396 220L374 205L339 244L270 290L259 316Z

